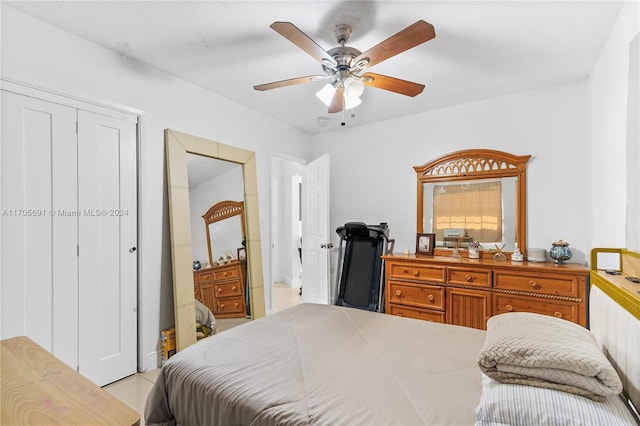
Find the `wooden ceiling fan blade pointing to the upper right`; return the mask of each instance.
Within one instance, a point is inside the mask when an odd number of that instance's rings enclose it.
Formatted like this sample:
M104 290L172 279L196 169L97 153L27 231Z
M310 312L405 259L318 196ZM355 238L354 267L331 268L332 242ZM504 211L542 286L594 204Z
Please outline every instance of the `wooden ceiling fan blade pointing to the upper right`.
M372 67L398 53L402 53L425 41L429 41L435 36L436 31L433 25L420 20L356 56L352 59L351 66L355 67L357 64L360 64L358 65L360 69ZM367 60L368 62L366 62Z

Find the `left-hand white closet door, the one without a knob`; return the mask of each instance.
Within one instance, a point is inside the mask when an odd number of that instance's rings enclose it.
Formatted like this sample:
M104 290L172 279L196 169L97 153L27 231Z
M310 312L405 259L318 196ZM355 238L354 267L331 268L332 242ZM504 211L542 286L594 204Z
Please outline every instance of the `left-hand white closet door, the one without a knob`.
M2 91L0 336L77 368L75 108Z

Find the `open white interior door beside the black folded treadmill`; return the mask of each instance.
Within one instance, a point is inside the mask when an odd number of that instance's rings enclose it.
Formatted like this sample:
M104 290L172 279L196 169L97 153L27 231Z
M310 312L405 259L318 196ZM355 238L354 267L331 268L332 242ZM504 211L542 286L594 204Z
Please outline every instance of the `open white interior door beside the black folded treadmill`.
M303 302L330 303L329 173L329 154L307 165L302 211Z

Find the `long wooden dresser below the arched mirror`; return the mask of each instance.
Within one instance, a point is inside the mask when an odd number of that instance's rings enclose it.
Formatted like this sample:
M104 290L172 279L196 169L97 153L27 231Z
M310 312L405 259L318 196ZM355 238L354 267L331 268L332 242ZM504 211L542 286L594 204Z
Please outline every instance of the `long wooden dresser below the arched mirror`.
M486 329L492 315L536 312L586 326L589 270L579 264L387 255L387 314Z

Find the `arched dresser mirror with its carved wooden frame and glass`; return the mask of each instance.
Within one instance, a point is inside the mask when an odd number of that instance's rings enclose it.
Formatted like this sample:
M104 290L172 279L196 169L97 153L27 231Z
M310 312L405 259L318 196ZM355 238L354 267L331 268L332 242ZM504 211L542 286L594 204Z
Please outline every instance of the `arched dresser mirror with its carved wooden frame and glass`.
M483 257L498 248L525 253L529 158L471 149L414 167L417 232L435 234L435 255L448 256L474 242Z

